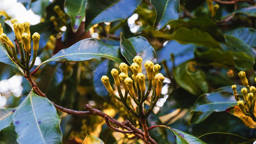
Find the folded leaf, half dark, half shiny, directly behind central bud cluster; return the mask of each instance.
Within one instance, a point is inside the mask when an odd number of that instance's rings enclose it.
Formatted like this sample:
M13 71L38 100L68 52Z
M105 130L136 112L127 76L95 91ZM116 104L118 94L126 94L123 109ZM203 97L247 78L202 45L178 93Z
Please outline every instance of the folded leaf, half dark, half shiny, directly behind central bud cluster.
M142 58L142 65L147 60L156 63L156 52L150 43L142 36L132 37L129 39L121 36L121 53L131 65L135 56ZM142 66L143 68L144 66Z

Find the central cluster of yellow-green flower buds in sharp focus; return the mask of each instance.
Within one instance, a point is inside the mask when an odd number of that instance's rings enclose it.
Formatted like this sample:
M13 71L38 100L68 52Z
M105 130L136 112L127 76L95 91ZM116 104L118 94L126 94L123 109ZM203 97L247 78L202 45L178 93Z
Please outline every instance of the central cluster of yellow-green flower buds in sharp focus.
M147 117L155 107L156 102L160 97L164 76L159 73L159 70L161 68L159 64L154 65L152 61L150 60L146 61L144 63L146 73L147 73L147 79L148 79L148 86L146 90L145 75L142 74L142 58L140 56L136 56L133 59L133 61L134 63L132 63L130 66L130 69L132 70L131 78L128 75L129 66L123 62L120 63L119 65L119 69L121 71L120 74L119 74L119 71L115 68L111 70L111 74L117 86L119 97L114 93L113 88L110 84L109 78L107 76L102 76L101 81L106 87L106 89L109 91L109 93L115 99L117 99L118 101L121 101L126 107L126 109L131 111L132 114L134 114L135 116L143 115L144 117ZM125 90L124 97L120 89L120 85L121 85L120 82ZM147 99L148 95L150 94L152 85L153 85L153 92L151 97L151 106L144 113L142 105L143 105L143 102ZM126 98L128 93L131 95L131 98L134 100L134 102L138 105L139 114L137 114L127 105Z

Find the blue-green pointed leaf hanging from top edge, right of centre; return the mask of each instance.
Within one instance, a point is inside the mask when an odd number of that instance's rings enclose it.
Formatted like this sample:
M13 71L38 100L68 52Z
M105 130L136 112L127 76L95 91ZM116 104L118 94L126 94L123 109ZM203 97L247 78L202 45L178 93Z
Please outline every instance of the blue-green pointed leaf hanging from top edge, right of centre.
M157 17L154 23L156 30L162 29L168 22L179 18L180 0L151 0Z

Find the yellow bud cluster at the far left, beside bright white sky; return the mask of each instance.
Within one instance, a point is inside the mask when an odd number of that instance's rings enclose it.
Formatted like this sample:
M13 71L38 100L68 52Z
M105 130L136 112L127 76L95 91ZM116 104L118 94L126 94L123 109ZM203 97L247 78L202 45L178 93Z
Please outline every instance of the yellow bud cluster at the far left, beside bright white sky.
M3 28L1 28L0 23L0 41L5 46L5 49L8 55L12 58L12 60L22 69L26 71L26 74L29 74L29 70L33 67L36 59L36 53L38 51L39 39L40 35L38 33L34 33L32 35L33 40L33 60L29 65L30 57L31 57L31 34L30 34L30 23L24 22L20 23L16 19L11 20L14 33L16 36L15 46L13 42L7 37L4 33ZM20 59L17 58L17 53L19 52Z

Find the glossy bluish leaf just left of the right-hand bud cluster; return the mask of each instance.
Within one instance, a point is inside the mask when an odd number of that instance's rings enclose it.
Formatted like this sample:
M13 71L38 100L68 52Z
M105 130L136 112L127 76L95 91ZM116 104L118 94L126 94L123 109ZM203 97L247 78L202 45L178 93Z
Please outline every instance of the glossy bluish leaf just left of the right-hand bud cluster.
M193 106L193 111L224 111L237 104L234 94L227 91L212 92L200 95Z

